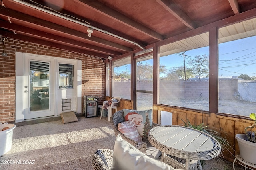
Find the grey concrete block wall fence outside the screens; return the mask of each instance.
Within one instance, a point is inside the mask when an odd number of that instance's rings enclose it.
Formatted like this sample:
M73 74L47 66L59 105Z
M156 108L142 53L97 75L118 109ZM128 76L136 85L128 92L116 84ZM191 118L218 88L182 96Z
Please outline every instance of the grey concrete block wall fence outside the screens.
M130 80L116 80L115 92L130 95ZM159 93L162 100L167 99L209 99L209 81L205 80L160 80ZM235 92L238 92L238 79L220 79L219 98L222 100L235 100ZM138 90L152 91L152 81L138 81ZM124 90L127 89L127 90Z

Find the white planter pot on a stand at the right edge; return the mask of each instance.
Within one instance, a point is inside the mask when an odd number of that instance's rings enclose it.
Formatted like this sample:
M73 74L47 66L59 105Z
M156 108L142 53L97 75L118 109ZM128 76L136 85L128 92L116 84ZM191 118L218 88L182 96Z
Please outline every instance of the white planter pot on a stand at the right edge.
M240 150L240 156L245 161L256 164L256 143L249 142L245 134L236 134L236 140Z

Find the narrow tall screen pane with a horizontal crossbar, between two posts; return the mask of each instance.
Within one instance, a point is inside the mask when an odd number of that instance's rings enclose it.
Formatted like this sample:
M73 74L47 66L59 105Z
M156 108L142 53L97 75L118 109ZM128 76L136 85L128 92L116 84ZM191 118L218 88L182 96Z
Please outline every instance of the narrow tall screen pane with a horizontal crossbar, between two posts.
M137 110L153 107L153 59L152 56L137 59Z

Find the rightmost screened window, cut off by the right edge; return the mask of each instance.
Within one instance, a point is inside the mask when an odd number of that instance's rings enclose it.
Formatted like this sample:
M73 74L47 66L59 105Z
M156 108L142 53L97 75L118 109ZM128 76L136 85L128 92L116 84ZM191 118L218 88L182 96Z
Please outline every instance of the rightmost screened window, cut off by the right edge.
M219 29L218 112L248 116L256 106L256 19Z

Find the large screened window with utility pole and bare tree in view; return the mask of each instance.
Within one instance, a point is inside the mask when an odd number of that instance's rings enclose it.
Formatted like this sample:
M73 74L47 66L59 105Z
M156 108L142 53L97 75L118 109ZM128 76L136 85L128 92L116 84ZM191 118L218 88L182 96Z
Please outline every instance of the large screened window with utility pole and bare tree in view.
M159 103L209 111L208 33L163 45Z

